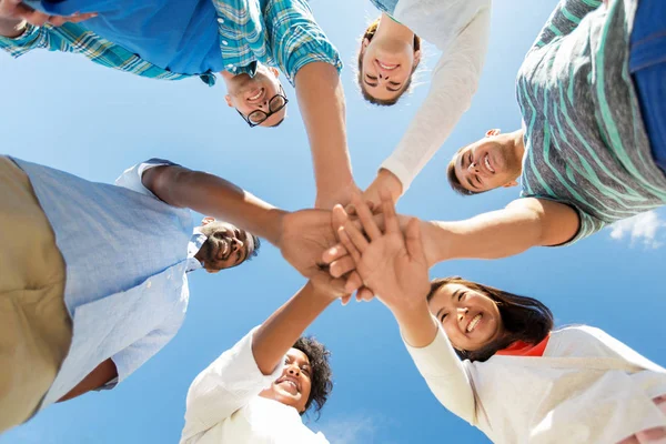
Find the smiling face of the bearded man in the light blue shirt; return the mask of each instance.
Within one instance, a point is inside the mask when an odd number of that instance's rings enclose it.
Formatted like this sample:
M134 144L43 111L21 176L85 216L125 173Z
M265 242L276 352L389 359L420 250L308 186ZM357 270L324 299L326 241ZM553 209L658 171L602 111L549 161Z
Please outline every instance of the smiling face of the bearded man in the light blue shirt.
M201 232L206 235L206 240L194 258L209 273L240 265L254 251L252 235L231 223L206 218Z

